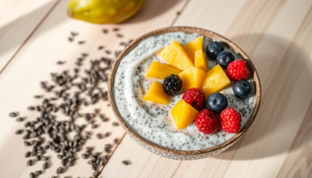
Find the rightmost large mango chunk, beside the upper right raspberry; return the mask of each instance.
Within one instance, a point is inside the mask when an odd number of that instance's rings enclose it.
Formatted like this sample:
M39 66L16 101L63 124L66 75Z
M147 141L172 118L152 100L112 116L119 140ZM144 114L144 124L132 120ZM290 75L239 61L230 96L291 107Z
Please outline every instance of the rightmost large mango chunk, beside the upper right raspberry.
M201 87L206 97L208 97L210 94L222 90L229 84L231 84L230 79L227 78L227 74L225 74L221 66L217 64L205 74Z

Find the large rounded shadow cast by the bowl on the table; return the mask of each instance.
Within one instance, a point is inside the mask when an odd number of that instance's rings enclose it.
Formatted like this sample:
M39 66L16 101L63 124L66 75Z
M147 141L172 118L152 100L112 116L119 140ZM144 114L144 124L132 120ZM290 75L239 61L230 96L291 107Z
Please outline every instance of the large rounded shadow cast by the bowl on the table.
M253 61L260 77L262 98L257 117L245 135L214 158L260 159L305 145L309 139L293 144L312 98L309 92L312 59L296 44L299 39L290 42L266 33L243 34L230 39ZM307 135L307 138L312 137Z

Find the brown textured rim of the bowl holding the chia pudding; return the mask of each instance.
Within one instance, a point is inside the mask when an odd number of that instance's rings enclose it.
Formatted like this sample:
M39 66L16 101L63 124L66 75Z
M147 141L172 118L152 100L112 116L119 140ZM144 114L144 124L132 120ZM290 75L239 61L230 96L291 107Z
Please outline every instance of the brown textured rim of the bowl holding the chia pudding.
M154 144L154 143L150 142L149 140L144 139L143 137L141 137L140 135L135 133L133 130L131 130L130 127L121 118L121 116L117 110L115 101L113 99L113 87L114 87L113 83L114 83L116 69L120 63L120 60L126 54L128 54L134 47L136 47L141 40L143 40L149 36L156 36L156 35L160 35L160 34L168 33L168 32L199 33L199 34L201 34L207 38L212 38L212 39L215 39L219 42L226 43L236 53L239 53L244 58L244 60L247 62L248 66L251 70L252 79L256 85L255 86L255 89L256 89L255 106L254 106L253 111L251 113L251 116L250 116L249 120L247 121L247 123L245 124L245 126L238 133L236 133L236 135L234 135L231 139L229 139L229 140L227 140L227 141L225 141L219 145L216 145L216 146L213 146L210 148L201 149L201 150L173 150L170 148L166 148L166 147ZM109 86L108 87L108 97L109 97L109 101L110 101L110 106L111 106L111 108L115 114L115 117L117 118L120 125L124 128L124 130L129 135L131 135L131 137L134 137L135 140L142 142L144 145L148 146L149 148L153 148L153 149L158 150L158 151L162 151L162 152L170 153L170 154L175 154L175 155L199 155L199 154L219 150L223 147L226 147L227 145L229 145L231 143L234 143L242 135L244 135L244 133L248 130L248 128L251 126L251 124L255 120L256 115L257 115L258 110L259 110L259 107L260 107L260 101L261 101L261 85L260 85L259 76L258 76L258 73L256 71L255 66L252 64L252 62L251 62L250 58L247 56L247 54L240 47L238 47L235 43L233 43L231 40L229 40L229 39L227 39L227 38L225 38L225 37L223 37L217 33L214 33L212 31L205 30L202 28L195 28L195 27L160 28L160 29L151 31L149 33L146 33L146 34L140 36L139 38L136 38L135 40L133 40L130 44L128 44L126 46L126 48L124 48L124 50L116 58L116 61L114 62L112 69L111 69L111 72L110 72L110 75L109 75L108 86Z

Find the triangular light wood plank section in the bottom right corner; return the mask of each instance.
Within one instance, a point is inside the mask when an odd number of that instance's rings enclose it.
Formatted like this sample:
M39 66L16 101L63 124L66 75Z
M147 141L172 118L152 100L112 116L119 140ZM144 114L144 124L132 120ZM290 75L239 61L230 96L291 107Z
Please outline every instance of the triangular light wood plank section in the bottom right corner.
M312 102L277 177L312 176Z

